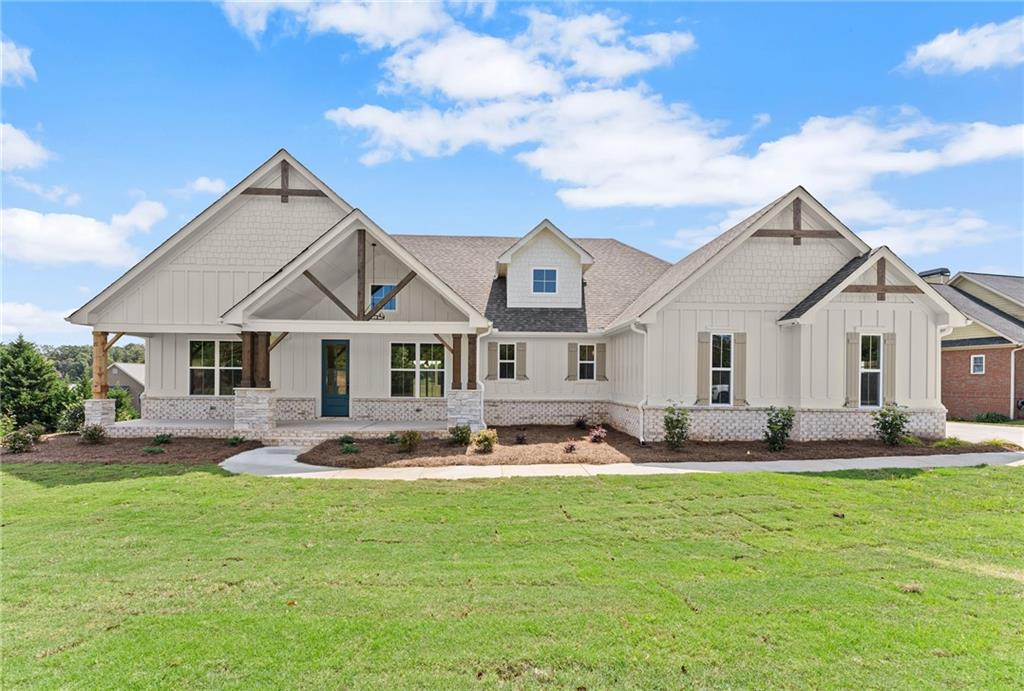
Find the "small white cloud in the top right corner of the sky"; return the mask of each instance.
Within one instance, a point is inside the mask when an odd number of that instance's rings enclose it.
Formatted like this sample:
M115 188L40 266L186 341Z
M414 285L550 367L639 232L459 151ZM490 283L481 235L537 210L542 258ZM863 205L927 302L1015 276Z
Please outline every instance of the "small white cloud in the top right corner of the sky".
M972 70L1013 67L1024 62L1024 16L990 23L962 32L954 29L915 46L903 62L928 74L962 75Z

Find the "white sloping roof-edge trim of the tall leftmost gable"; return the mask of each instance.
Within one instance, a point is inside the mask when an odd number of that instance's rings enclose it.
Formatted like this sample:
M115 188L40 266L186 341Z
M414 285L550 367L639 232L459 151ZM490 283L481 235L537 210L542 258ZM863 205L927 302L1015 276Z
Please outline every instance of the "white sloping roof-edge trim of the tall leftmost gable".
M242 181L224 192L220 199L201 211L195 218L174 232L174 234L158 245L156 249L150 252L150 254L145 255L145 257L143 257L138 263L121 274L117 280L104 288L98 295L89 300L87 303L69 314L65 317L65 319L67 321L71 321L72 323L87 325L89 312L97 309L100 305L102 305L102 303L117 294L118 291L147 271L150 267L159 263L161 259L166 257L172 250L181 247L182 244L190 237L196 230L206 223L206 221L210 220L210 218L212 218L220 210L238 199L242 195L243 190L251 187L253 183L258 181L260 178L272 173L274 168L281 165L282 161L287 161L288 165L295 168L300 175L308 179L317 189L327 195L327 198L337 204L345 213L352 210L352 206L348 202L339 197L338 193L331 189L331 187L329 187L323 180L313 175L313 173L302 165L294 156L288 153L288 150L280 148L273 156L264 161L253 172L243 178Z

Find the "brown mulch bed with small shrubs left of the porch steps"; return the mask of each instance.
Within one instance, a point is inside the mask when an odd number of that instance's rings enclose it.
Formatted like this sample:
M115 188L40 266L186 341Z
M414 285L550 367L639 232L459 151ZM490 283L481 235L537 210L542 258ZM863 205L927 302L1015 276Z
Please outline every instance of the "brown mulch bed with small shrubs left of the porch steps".
M258 441L244 441L228 446L223 439L200 437L173 437L164 444L163 454L146 454L145 446L153 445L152 437L139 439L106 439L99 444L87 444L77 434L55 434L44 437L27 454L0 451L4 463L93 463L93 464L157 464L175 463L189 466L220 463L236 454L258 448Z

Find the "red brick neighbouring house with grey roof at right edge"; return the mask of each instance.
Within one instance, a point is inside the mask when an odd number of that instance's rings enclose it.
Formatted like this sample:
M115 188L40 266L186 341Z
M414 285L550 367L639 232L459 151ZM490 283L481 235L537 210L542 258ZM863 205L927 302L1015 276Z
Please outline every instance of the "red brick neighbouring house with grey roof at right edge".
M922 276L971 323L942 337L942 402L949 416L1024 418L1024 276L949 269Z

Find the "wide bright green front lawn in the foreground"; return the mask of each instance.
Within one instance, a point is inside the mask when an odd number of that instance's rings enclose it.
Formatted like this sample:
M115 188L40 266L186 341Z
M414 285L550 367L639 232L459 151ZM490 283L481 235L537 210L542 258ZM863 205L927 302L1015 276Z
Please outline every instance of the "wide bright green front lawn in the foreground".
M1024 685L1021 469L3 470L4 688Z

